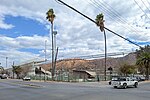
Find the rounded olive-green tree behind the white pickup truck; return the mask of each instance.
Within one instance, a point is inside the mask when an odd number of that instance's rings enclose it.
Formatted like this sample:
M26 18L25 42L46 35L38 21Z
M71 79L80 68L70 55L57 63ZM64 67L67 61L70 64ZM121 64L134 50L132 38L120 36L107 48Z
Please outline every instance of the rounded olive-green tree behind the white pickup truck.
M124 76L134 74L136 72L136 67L134 65L123 64L119 68L119 72Z

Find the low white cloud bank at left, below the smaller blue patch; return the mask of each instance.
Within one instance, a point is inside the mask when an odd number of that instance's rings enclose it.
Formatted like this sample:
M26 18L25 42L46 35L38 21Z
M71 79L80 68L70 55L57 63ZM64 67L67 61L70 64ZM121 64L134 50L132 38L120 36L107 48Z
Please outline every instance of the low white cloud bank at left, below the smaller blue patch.
M43 60L42 58L38 57L38 54L33 54L29 52L20 52L18 50L9 49L9 50L0 50L0 57L1 57L1 64L3 67L6 68L6 57L7 59L7 67L11 67L13 61L15 65L19 65L22 63L27 63L30 59L32 61L37 61L38 59Z

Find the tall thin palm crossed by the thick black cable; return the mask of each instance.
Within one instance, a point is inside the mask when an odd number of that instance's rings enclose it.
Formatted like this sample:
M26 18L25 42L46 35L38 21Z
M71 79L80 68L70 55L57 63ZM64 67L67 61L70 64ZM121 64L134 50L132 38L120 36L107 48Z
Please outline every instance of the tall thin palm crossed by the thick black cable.
M104 32L104 39L105 39L105 69L104 69L104 76L106 81L106 60L107 60L107 45L106 45L106 33L104 30L104 15L102 13L96 16L96 25L100 28L101 32Z

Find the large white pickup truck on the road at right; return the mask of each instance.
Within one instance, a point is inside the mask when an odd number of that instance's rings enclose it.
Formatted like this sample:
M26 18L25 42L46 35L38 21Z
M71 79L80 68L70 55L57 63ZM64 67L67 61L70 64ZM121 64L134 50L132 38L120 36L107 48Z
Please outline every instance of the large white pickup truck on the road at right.
M116 78L112 79L111 85L114 88L126 89L127 87L130 87L130 86L134 86L135 88L137 88L138 81L131 77L116 77Z

